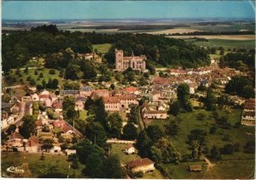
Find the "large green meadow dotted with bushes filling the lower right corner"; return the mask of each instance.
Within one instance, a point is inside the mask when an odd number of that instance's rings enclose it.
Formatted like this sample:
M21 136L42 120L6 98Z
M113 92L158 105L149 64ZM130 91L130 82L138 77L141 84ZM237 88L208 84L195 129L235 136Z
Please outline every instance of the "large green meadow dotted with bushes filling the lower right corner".
M222 148L224 144L239 143L239 152L234 152L232 155L222 155L222 160L211 160L215 166L211 172L189 172L187 170L189 163L180 163L178 165L167 164L162 165L172 172L173 178L249 178L253 177L254 170L254 155L244 153L244 146L248 141L254 141L254 127L241 126L234 127L236 122L241 121L241 110L217 110L218 116L225 116L231 124L230 129L222 129L218 127L212 117L212 111L194 110L193 112L183 113L177 117L170 116L170 120L154 120L149 121L148 125L157 125L164 131L164 126L169 121L177 121L179 127L178 135L170 138L177 151L183 155L191 155L191 149L188 142L188 136L193 129L205 129L207 131L206 144L202 146L212 149L213 145ZM197 120L199 113L206 115L205 119ZM217 131L213 134L209 133L211 127L216 126ZM197 164L200 162L192 162ZM227 171L225 171L228 169ZM209 170L210 171L210 170Z

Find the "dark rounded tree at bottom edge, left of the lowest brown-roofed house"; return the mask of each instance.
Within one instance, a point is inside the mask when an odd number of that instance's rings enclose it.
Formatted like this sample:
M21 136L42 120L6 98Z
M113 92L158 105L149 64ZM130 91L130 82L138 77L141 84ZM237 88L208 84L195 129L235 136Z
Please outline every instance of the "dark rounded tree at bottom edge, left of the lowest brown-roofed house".
M124 174L121 167L121 162L117 155L111 155L104 162L104 171L106 178L124 178Z

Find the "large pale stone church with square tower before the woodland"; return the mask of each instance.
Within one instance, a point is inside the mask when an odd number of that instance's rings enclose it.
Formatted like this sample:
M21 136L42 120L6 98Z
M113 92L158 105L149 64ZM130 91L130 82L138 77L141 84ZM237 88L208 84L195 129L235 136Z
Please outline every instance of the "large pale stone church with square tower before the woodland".
M131 67L132 70L146 70L146 59L145 55L135 56L133 53L131 56L124 57L123 50L115 49L115 69L123 71L128 67Z

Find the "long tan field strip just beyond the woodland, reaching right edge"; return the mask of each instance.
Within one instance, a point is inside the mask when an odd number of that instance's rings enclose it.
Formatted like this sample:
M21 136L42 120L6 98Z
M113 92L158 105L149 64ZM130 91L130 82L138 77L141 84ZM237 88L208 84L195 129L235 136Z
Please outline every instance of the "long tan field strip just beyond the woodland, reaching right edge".
M255 35L189 35L189 36L168 36L177 39L190 39L194 37L205 38L205 39L224 39L224 40L254 40Z

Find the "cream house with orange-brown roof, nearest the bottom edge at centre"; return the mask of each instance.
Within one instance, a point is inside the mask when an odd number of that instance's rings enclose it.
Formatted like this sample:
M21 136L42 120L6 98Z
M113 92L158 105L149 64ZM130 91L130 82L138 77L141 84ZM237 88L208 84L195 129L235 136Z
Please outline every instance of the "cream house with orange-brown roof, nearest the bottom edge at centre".
M143 158L140 160L131 160L126 164L128 170L131 172L153 172L154 162L152 160L149 160L148 158Z

